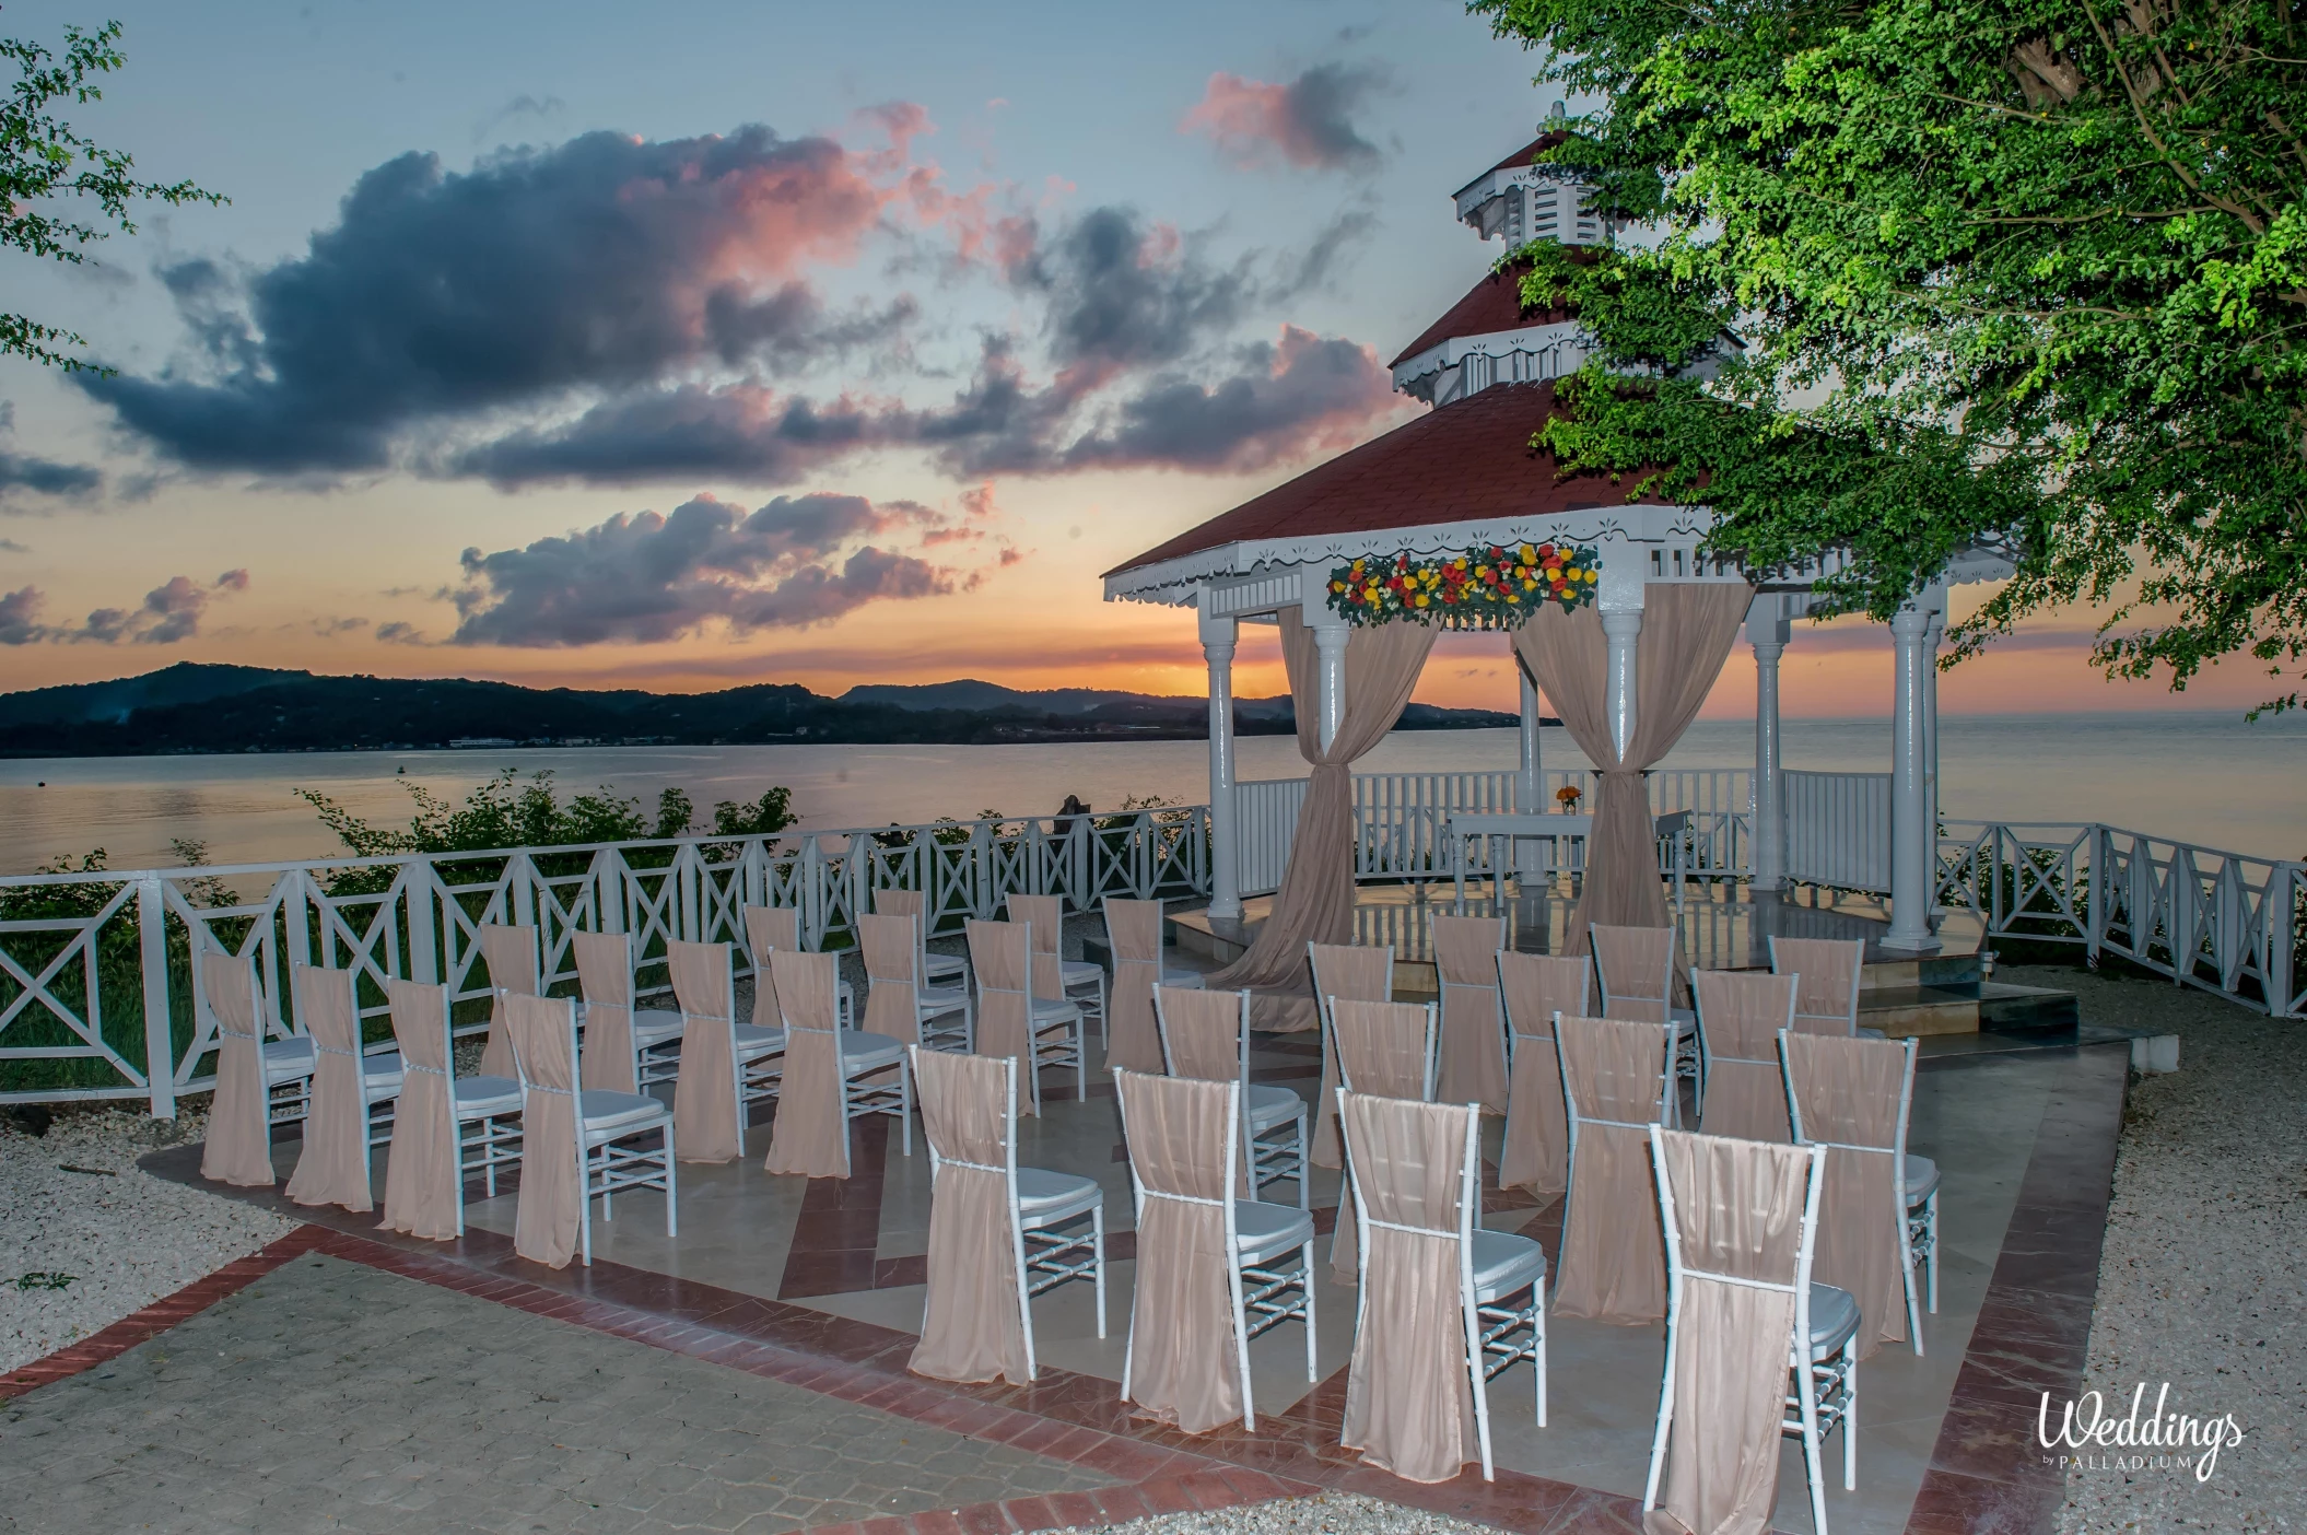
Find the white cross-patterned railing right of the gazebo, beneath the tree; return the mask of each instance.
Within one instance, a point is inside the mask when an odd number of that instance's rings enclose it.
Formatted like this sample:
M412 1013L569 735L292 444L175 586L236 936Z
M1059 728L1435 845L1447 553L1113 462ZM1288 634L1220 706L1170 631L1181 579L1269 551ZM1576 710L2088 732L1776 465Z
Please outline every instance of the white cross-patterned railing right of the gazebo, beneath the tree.
M2277 1018L2307 1018L2307 863L2099 824L1947 822L1938 903L1989 937L2116 953Z

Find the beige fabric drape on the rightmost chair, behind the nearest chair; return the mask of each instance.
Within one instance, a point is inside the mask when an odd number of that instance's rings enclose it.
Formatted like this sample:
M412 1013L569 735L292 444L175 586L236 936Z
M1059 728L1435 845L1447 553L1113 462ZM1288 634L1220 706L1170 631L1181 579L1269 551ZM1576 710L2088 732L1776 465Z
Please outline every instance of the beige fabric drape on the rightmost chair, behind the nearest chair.
M1871 1360L1883 1343L1906 1341L1906 1212L1892 1163L1906 1046L1788 1034L1786 1087L1802 1110L1802 1138L1827 1145L1811 1279L1859 1302L1857 1357Z

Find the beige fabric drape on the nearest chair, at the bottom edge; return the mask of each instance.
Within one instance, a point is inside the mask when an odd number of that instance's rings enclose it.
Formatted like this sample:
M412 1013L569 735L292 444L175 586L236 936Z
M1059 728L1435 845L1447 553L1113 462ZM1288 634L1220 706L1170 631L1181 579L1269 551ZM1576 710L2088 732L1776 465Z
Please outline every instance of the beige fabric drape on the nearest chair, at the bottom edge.
M1763 1535L1779 1503L1779 1424L1809 1156L1788 1145L1666 1131L1682 1302L1661 1507L1647 1535ZM1723 1274L1726 1279L1707 1279Z

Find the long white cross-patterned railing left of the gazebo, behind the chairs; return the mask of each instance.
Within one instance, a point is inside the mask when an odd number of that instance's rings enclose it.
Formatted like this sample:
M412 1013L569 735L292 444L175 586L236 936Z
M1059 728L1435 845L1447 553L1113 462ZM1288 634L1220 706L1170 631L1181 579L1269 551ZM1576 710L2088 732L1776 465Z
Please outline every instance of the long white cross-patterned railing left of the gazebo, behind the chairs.
M810 944L844 946L874 889L925 891L937 933L1020 891L1073 909L1207 893L1209 810L5 877L0 1101L145 1099L173 1117L215 1085L201 965L219 951L258 963L275 1034L295 1029L293 963L353 969L376 1039L388 979L445 981L473 1032L482 923L535 923L547 983L574 983L577 930L632 933L644 972L669 939L736 942L750 974L741 907L798 907Z

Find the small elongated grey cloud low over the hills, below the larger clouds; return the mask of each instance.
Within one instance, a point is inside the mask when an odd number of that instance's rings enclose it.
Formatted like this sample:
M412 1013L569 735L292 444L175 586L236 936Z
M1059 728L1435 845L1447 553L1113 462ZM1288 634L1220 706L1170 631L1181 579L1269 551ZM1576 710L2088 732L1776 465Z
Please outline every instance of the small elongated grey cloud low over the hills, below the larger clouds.
M870 542L851 547L937 522L914 501L777 496L747 515L697 496L664 517L618 512L521 549L466 549L452 644L653 644L708 623L741 635L810 628L865 602L941 596L964 577Z

